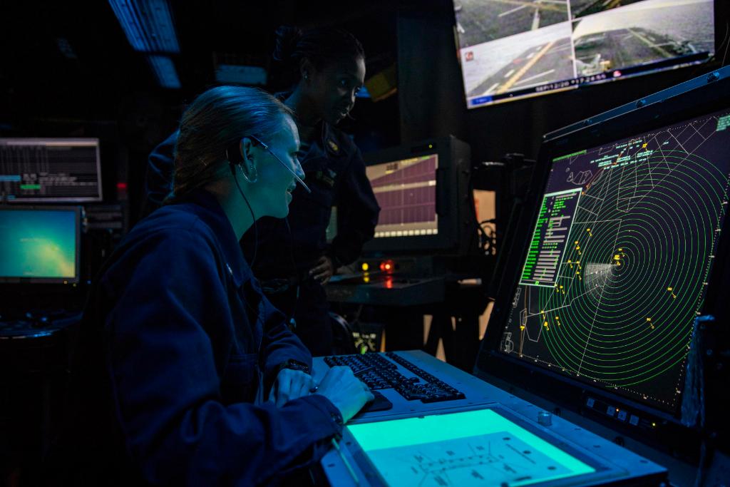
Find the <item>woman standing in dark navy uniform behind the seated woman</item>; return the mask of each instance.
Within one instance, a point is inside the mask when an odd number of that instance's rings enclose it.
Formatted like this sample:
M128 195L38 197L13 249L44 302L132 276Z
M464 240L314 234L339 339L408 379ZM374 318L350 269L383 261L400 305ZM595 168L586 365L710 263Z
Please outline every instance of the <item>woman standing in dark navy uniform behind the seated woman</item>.
M288 219L261 218L242 242L253 272L271 302L291 323L312 355L332 349L332 330L323 285L337 267L350 264L372 238L380 212L365 174L360 150L336 128L355 104L365 76L364 50L352 34L334 28L277 30L274 59L295 80L278 97L296 114L298 153L311 193L293 191ZM147 204L169 191L169 166L177 134L152 154L147 170ZM326 229L337 208L337 234Z

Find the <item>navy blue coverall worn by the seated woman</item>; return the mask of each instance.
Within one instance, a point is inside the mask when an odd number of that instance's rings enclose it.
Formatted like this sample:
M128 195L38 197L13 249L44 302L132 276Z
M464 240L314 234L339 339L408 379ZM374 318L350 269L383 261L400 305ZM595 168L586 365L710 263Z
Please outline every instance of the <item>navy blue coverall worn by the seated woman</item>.
M291 359L311 366L215 197L196 190L157 210L115 250L85 310L70 483L96 471L98 485L253 486L317 460L342 431L326 397L254 403Z

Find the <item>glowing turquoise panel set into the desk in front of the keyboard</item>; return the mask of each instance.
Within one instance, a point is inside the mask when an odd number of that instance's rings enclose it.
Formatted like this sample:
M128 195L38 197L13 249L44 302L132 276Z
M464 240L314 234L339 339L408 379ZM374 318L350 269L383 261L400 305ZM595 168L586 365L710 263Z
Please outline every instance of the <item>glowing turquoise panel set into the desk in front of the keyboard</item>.
M388 486L531 486L596 472L493 410L347 426Z

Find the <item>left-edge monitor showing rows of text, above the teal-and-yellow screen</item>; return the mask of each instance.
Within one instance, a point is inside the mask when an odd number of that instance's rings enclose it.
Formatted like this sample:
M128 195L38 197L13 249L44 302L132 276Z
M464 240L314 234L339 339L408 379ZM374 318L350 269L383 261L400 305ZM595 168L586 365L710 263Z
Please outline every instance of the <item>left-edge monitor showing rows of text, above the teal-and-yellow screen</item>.
M0 139L0 196L10 203L99 202L99 139Z

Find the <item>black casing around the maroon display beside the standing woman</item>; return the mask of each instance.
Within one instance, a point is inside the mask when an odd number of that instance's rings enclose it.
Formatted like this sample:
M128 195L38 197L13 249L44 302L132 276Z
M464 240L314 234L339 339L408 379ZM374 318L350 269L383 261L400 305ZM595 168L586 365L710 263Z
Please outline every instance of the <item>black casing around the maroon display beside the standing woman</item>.
M469 246L464 219L469 215L471 148L456 137L426 139L399 147L363 155L366 166L385 164L422 156L437 155L436 213L438 232L435 235L372 238L365 243L365 255L414 253L465 253ZM473 206L473 205L472 205ZM469 226L469 228L471 228ZM476 231L476 229L474 229Z

